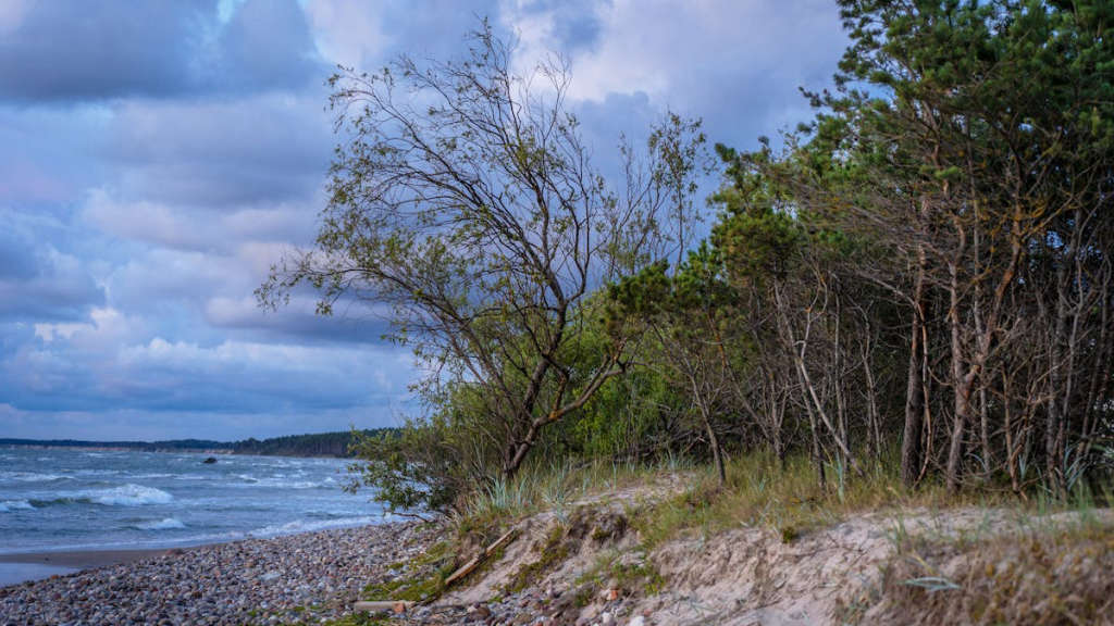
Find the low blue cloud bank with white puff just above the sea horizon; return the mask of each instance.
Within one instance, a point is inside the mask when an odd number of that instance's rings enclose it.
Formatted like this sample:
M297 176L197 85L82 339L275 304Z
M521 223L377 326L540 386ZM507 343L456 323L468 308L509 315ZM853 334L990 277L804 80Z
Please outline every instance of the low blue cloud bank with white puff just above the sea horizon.
M0 363L4 402L25 411L355 410L404 402L413 375L409 355L388 346L205 345L158 335L133 343L128 321L106 316L37 330L38 342Z

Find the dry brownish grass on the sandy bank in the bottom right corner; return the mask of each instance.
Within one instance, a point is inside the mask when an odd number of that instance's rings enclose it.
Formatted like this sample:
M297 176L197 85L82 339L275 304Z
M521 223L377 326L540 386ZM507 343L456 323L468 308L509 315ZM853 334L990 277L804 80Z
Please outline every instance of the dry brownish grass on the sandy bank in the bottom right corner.
M877 585L843 623L1112 624L1114 527L1071 516L1018 531L958 537L901 534Z

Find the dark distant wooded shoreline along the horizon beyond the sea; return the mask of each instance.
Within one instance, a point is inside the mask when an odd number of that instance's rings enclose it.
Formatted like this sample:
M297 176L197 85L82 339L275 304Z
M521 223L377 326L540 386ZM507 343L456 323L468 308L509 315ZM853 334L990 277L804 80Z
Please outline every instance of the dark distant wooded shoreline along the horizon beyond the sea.
M370 434L393 429L361 431ZM291 434L270 439L213 441L207 439L172 439L167 441L82 441L77 439L0 439L0 447L35 446L41 448L113 448L147 452L211 451L232 454L275 457L350 457L349 443L353 431Z

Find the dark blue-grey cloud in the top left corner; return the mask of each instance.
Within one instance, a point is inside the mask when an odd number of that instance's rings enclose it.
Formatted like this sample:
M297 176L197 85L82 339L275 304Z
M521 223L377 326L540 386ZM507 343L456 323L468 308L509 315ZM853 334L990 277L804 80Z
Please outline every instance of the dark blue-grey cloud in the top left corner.
M292 89L324 77L295 0L18 1L0 11L0 100L76 102Z

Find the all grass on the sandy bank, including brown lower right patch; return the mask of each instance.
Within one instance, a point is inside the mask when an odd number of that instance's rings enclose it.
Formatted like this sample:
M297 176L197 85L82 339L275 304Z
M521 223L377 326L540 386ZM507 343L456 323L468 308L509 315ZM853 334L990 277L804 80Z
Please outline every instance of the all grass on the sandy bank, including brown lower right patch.
M1114 588L1107 588L1105 579L1111 577L1104 573L1108 569L1101 568L1114 567L1110 557L1114 554L1114 540L1108 525L1100 524L1101 516L1095 512L1096 502L1114 501L1111 492L1096 498L1081 488L1069 502L1040 490L1029 500L1006 491L978 489L952 496L942 485L932 482L917 490L906 489L898 468L896 458L879 459L868 461L862 475L852 476L841 464L829 463L828 482L820 486L807 457L791 457L781 463L763 452L732 459L724 485L719 483L711 468L677 460L652 466L539 464L524 469L512 480L492 481L467 502L465 511L453 520L456 549L468 556L477 547L490 544L515 521L550 511L551 527L535 548L538 557L520 567L500 593L514 594L536 584L560 567L573 550L579 549L576 541L590 539L602 554L597 564L574 585L579 601L588 603L594 594L613 585L636 595L659 593L667 581L649 555L682 532L695 531L709 537L739 527L766 528L781 541L792 544L851 516L889 511L897 520L893 534L897 556L886 566L880 585L868 585L867 595L849 600L842 616L844 622L853 623L871 607L876 612L882 607L893 616L891 620L899 623L912 622L910 616L922 614L932 617L921 620L925 624L1010 623L1023 616L1023 610L1034 610L1026 603L1040 597L1051 603L1037 609L1045 612L1039 615L1044 616L1043 623L1049 624L1072 623L1081 616L1084 619L1078 623L1087 623L1100 617L1100 610L1111 608L1104 603L1114 598ZM593 517L599 509L590 502L606 498L608 492L661 483L664 479L673 485L672 491L657 490L651 498L627 503L622 515L614 513L624 525L617 535ZM939 511L956 507L980 507L988 511L987 518L959 534L949 535L945 529L926 534L921 528L916 537L901 522L901 516L910 509ZM1076 513L1072 516L1074 526L1057 526L1043 515L1063 510ZM1018 532L1009 535L1023 537L1020 544L1016 539L1000 539L1001 521L1010 516L1018 525ZM626 525L638 534L634 550L641 556L634 561L627 558L629 554L620 555L608 547L613 536L625 532ZM443 589L443 579L453 565L451 548L443 544L441 551L422 559L424 563L409 569L407 576L369 587L365 595L375 599L414 600L436 596ZM1064 557L1052 558L1055 555ZM485 567L500 557L492 556ZM955 563L968 565L945 567ZM1015 565L1004 566L1004 563ZM1065 567L1071 570L1069 584L1057 586L1057 577ZM470 577L477 575L482 574L473 573ZM1088 575L1098 581L1088 583ZM949 597L959 601L942 601ZM934 608L922 610L921 605ZM335 623L336 626L364 624L377 622Z

